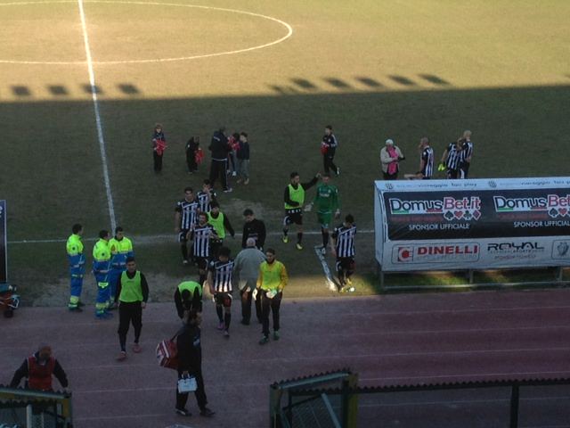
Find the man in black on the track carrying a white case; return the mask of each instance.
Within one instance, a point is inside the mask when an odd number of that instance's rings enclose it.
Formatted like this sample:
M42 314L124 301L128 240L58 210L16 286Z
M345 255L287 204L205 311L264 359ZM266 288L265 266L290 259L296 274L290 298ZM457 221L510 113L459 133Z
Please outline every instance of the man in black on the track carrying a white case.
M206 405L208 398L204 389L204 377L202 376L202 347L200 343L201 331L199 325L201 318L195 310L186 310L183 316L183 327L176 337L178 348L178 379L183 376L194 376L198 389L194 392L198 402L199 415L211 417L215 412ZM186 408L188 392L180 393L176 389L176 413L180 416L191 416Z

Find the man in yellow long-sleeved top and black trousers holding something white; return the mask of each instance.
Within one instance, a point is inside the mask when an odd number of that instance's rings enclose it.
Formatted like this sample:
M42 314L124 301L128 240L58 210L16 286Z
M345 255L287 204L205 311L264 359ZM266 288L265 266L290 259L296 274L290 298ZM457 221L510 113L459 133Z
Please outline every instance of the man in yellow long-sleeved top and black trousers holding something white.
M273 340L279 341L280 318L279 309L283 298L283 289L289 277L287 269L281 261L275 259L275 250L265 251L265 261L259 266L257 277L257 292L261 294L261 320L263 336L260 345L269 342L269 312L273 313Z

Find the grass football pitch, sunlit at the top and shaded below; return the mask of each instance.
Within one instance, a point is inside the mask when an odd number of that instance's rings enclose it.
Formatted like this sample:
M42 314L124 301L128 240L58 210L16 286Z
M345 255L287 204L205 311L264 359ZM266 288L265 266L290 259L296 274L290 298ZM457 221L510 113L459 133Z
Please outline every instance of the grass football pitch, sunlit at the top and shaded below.
M564 0L196 5L84 3L115 214L134 236L155 299L169 298L179 280L195 276L180 264L174 204L184 186L198 187L207 177L209 159L198 175L187 175L183 144L199 135L207 146L220 125L247 131L252 145L250 185L220 196L239 230L241 211L251 207L280 231L289 172L308 179L322 169L319 142L327 124L340 144L342 175L334 181L343 211L362 230L373 226L372 181L381 177L379 149L388 137L408 157L403 172L417 169L421 136L430 136L439 157L471 129L472 177L568 174L570 3ZM282 23L242 12L283 21L293 33L229 54L288 34ZM64 243L21 241L65 239L75 222L84 224L86 239L110 226L78 3L0 1L0 39L0 199L8 201L10 278L24 300L61 304L68 293ZM204 56L212 54L218 55ZM169 143L159 177L150 150L155 122L164 124ZM305 225L318 231L313 214ZM312 251L319 236L305 243L299 253L277 235L268 240L289 266L289 295L328 294ZM89 255L92 244L86 243ZM360 235L357 244L358 289L376 292L373 235ZM239 240L230 246L238 251ZM85 289L94 292L90 276Z

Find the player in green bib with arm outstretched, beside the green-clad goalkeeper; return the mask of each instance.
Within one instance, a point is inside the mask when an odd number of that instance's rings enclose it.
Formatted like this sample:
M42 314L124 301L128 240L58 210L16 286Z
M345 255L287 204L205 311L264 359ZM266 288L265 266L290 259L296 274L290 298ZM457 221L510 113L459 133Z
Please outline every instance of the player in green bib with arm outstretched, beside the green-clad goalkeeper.
M308 183L300 183L298 172L291 172L290 183L285 187L283 200L285 202L285 218L283 218L283 243L289 243L289 225L297 225L297 250L303 250L303 204L305 203L305 190L313 187L319 181L317 173Z

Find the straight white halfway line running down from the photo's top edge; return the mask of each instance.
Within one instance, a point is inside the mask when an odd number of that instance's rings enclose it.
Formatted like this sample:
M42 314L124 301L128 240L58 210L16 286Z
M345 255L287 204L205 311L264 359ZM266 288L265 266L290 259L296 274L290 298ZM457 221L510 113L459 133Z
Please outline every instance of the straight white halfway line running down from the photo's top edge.
M97 87L95 86L95 73L93 70L93 59L91 57L91 47L89 46L89 36L87 35L87 23L85 21L85 10L83 0L77 0L79 6L79 16L81 18L81 29L83 30L83 41L85 44L85 57L87 60L87 70L89 71L89 85L91 86L91 99L95 113L95 125L97 128L97 138L99 140L99 152L101 153L103 180L105 182L105 192L107 193L107 205L109 207L110 229L115 230L117 220L115 218L115 207L113 205L113 195L110 190L109 167L107 165L107 153L105 150L105 139L103 137L103 127L101 113L99 111L99 101L97 100Z

